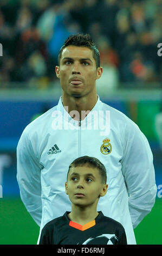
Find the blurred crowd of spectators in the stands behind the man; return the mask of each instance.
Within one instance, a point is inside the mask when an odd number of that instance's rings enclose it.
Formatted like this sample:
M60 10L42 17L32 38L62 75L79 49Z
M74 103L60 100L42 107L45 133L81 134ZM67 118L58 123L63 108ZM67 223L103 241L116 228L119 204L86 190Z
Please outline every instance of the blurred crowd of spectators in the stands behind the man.
M70 34L89 33L109 88L162 81L162 0L3 0L0 86L50 88Z

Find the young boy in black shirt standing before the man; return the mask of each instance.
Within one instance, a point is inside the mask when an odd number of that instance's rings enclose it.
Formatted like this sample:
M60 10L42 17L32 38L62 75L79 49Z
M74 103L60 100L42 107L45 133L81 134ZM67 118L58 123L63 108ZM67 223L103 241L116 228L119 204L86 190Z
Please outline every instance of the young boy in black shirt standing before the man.
M124 227L96 211L108 185L105 166L95 157L82 156L69 166L66 194L72 211L48 222L40 245L126 245Z

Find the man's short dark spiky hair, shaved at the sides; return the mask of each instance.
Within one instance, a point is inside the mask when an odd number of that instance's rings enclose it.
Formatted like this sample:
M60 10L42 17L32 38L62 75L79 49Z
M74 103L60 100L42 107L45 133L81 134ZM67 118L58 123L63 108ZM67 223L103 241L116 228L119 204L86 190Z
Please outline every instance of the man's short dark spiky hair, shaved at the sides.
M89 34L69 35L69 37L65 40L63 46L60 49L59 56L57 58L58 65L60 65L60 58L61 58L63 49L69 45L87 47L90 50L92 50L93 58L95 59L95 62L96 62L96 69L99 68L100 53Z

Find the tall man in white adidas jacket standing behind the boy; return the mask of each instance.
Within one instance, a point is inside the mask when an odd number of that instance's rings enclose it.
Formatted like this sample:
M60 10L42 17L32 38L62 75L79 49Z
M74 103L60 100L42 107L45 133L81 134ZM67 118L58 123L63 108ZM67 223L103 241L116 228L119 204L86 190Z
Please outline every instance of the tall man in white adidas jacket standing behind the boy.
M58 60L62 97L24 129L17 146L22 201L41 232L64 209L70 211L63 186L70 162L96 157L108 177L98 208L120 222L127 243L135 244L133 228L151 211L157 192L150 146L132 120L100 101L100 55L89 35L69 36Z

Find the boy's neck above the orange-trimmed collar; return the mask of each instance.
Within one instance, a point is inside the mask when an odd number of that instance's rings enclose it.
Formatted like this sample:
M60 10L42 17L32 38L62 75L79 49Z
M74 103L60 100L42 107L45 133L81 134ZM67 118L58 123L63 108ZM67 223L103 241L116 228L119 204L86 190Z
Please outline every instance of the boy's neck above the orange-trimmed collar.
M93 221L99 213L92 208L80 208L79 206L72 206L72 212L68 214L71 221L85 225Z

